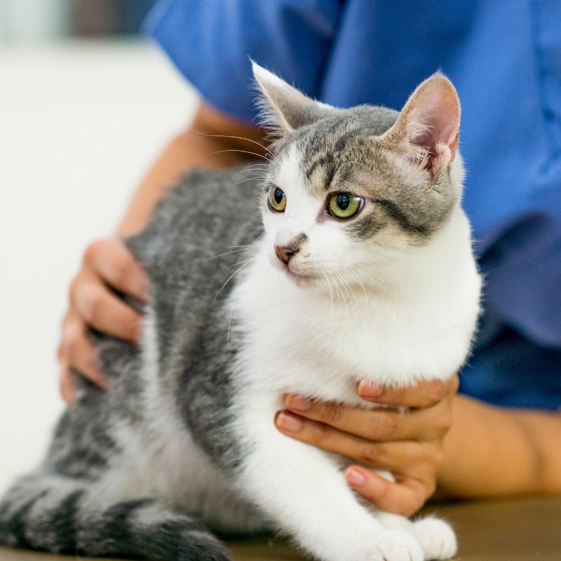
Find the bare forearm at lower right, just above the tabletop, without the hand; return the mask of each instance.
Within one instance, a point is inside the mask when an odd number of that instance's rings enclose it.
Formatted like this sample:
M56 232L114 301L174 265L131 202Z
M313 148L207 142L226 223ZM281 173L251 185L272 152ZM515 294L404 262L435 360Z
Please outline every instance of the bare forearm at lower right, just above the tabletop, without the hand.
M457 396L439 487L460 497L561 492L561 414Z

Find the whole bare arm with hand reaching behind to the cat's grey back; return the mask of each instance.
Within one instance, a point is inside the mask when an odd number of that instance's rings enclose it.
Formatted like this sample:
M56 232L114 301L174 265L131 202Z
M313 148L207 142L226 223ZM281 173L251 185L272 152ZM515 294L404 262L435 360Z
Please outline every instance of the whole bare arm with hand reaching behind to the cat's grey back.
M140 315L123 304L114 290L142 301L147 297L148 280L119 238L144 227L165 189L173 186L182 174L196 166L227 168L250 161L252 154L248 152L264 153L259 147L262 142L262 132L250 123L201 104L193 123L171 140L149 169L133 195L116 237L88 245L70 288L69 310L62 322L58 351L60 389L67 402L73 396L72 369L107 387L86 337L88 325L131 342L140 337Z

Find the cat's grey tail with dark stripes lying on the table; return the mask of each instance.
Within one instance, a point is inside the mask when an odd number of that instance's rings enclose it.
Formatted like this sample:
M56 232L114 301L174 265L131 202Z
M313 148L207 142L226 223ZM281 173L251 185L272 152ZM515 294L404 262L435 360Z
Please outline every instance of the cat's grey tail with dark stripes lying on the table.
M208 529L157 501L111 504L87 482L46 475L20 479L0 500L0 544L151 561L230 558Z

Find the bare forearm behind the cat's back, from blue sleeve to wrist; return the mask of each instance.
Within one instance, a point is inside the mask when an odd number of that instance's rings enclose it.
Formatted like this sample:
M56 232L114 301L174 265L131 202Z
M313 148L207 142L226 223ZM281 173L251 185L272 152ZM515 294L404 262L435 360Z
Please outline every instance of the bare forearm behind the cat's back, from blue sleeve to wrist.
M261 141L259 130L202 104L191 126L165 147L149 169L133 195L117 234L126 236L142 229L165 189L187 171L195 167L228 168L248 161L252 155L245 151L262 154L256 144Z

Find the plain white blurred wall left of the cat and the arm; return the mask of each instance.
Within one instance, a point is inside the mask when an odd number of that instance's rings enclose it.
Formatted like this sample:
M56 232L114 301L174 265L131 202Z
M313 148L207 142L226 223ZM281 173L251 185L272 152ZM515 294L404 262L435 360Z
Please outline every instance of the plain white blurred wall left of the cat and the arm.
M0 492L62 409L55 349L81 251L195 107L145 43L0 49Z

